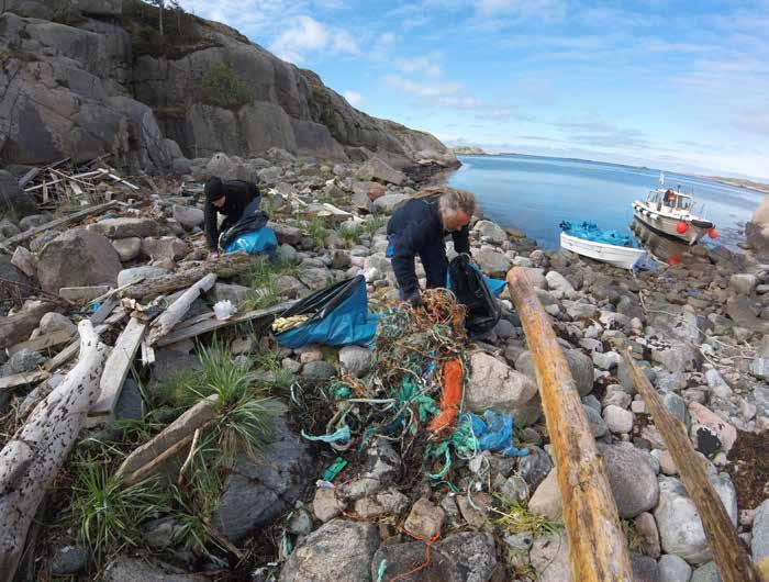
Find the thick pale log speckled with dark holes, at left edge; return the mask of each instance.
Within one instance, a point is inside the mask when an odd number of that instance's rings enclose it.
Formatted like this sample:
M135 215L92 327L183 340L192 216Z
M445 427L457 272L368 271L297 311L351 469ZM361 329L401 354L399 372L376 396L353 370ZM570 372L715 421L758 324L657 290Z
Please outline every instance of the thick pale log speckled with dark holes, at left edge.
M107 347L79 324L80 359L0 451L0 579L12 580L37 506L99 396Z

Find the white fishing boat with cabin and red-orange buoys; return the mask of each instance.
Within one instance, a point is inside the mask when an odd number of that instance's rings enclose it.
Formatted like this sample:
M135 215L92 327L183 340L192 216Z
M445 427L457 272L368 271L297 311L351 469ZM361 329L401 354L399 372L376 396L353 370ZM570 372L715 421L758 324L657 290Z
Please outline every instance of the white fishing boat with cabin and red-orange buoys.
M660 175L660 186L665 176ZM695 244L707 235L717 238L715 224L694 214L694 199L691 194L672 188L656 188L646 197L646 201L633 202L635 217L649 228L667 236Z

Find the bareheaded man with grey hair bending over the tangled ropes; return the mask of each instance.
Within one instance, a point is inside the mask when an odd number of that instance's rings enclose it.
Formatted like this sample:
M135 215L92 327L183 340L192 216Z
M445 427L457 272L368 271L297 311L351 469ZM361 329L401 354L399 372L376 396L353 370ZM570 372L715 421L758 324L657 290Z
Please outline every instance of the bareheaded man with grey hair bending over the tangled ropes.
M469 224L476 211L471 192L453 188L430 189L398 209L387 225L388 256L400 289L401 300L422 303L414 266L419 255L427 289L446 287L448 259L444 238L454 238L454 249L470 254Z

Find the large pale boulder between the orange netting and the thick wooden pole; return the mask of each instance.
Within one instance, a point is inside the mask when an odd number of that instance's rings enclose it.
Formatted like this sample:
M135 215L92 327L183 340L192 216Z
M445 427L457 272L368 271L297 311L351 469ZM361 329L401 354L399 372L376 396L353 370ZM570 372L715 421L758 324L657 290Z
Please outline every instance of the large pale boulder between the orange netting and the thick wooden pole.
M483 351L470 356L470 370L465 404L471 411L495 408L515 416L537 392L531 378Z

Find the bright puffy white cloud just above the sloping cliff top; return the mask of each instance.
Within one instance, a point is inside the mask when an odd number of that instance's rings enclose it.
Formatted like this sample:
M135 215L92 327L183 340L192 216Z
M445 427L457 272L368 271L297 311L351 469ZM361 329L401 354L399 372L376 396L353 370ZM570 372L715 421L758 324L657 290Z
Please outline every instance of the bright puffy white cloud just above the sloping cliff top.
M308 53L332 51L357 54L355 38L344 29L330 29L311 16L296 16L270 45L270 49L285 60L303 63Z

